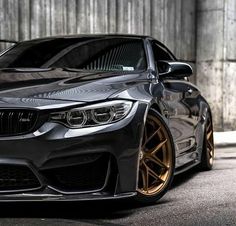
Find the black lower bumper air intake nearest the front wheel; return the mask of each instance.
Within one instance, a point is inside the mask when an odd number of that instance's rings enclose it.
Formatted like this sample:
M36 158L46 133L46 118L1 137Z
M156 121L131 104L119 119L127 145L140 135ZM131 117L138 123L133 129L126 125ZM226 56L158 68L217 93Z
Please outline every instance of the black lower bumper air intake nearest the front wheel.
M109 170L108 154L92 162L43 170L41 173L54 188L64 192L100 190L106 183Z

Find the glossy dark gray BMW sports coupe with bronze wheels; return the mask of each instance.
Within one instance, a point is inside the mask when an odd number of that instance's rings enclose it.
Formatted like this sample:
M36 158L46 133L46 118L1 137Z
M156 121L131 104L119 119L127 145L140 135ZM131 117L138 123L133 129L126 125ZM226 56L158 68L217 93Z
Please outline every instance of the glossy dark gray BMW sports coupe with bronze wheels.
M60 36L0 54L0 201L133 197L210 170L211 110L192 68L132 35Z

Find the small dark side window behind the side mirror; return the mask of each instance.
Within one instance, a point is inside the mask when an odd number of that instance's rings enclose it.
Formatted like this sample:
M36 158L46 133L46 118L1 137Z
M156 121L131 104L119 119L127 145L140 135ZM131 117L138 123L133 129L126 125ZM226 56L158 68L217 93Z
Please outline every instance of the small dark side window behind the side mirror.
M156 67L159 72L165 71L165 68L163 68L164 65L158 64L158 61L160 60L174 60L174 57L162 46L159 46L157 43L152 43L152 49L154 54L154 60Z

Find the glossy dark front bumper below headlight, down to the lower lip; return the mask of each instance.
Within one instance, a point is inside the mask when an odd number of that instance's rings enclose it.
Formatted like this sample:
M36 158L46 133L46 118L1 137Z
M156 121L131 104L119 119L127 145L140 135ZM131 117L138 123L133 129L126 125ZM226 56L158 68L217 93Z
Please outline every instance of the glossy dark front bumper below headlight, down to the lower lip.
M39 183L33 187L4 190L1 188L4 180L0 180L0 201L77 201L136 195L145 112L146 105L136 102L125 119L110 125L69 129L48 122L31 134L1 137L0 170L1 166L15 166L16 171L18 166L24 166L33 172ZM100 161L103 157L105 160ZM102 165L96 163L97 168L94 168L95 161ZM105 168L104 164L107 164ZM102 168L104 177L99 174ZM63 171L63 178L62 174L59 175L59 184L58 176L49 176L55 170ZM92 170L95 174L91 176ZM25 178L22 175L20 178ZM27 174L27 181L31 181L32 178L28 177ZM70 178L72 185L68 181ZM78 185L77 180L82 184L86 180L87 186ZM90 182L94 182L91 188Z

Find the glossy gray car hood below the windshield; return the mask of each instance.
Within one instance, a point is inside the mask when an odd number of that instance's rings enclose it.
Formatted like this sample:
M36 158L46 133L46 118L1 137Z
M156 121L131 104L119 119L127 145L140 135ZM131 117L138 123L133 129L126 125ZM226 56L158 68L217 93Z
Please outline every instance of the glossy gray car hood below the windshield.
M136 85L141 78L143 74L119 72L1 69L0 106L1 103L15 104L15 100L19 100L20 104L24 101L24 104L37 106L41 106L42 102L51 105L62 101L83 103L104 100L116 92Z

